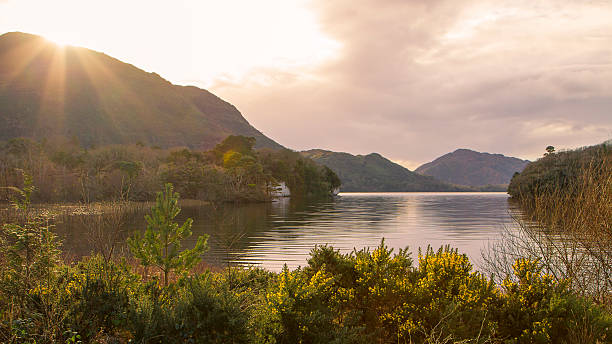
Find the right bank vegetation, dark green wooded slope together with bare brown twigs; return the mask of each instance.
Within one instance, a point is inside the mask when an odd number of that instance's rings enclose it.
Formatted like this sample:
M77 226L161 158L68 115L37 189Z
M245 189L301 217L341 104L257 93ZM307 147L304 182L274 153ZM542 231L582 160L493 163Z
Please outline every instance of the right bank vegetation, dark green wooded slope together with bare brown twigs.
M555 281L576 293L612 304L612 147L606 144L555 152L529 164L508 192L521 213L488 257L505 271L515 257L537 259Z

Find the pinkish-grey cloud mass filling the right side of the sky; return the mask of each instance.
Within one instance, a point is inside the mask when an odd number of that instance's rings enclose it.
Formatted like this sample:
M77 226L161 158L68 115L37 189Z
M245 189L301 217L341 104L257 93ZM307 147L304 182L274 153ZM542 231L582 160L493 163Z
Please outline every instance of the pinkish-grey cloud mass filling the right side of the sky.
M612 136L612 4L315 1L339 55L212 90L294 149L533 159ZM263 80L263 81L262 81Z

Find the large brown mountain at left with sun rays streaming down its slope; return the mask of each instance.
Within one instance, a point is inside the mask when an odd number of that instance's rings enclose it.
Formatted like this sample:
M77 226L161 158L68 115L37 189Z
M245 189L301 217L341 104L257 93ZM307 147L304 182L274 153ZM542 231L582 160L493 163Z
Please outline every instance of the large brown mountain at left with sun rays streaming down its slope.
M105 54L40 36L0 36L0 140L209 149L232 134L255 137L257 148L282 147L206 90L173 85Z

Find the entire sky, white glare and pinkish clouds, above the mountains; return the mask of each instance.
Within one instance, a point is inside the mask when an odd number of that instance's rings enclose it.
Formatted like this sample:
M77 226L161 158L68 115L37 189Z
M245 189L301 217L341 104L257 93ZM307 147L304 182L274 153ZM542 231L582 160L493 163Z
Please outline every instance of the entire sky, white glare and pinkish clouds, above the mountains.
M612 1L0 0L0 33L206 88L282 145L414 169L612 138Z

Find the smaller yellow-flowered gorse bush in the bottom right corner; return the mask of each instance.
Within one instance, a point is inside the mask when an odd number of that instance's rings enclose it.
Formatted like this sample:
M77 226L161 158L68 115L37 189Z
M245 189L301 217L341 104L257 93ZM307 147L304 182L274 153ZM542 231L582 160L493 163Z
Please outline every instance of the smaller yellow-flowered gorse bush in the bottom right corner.
M612 338L612 317L574 295L567 281L543 274L538 261L517 259L512 267L514 278L504 280L500 304L494 308L503 325L499 335L509 338L507 342L595 343Z

